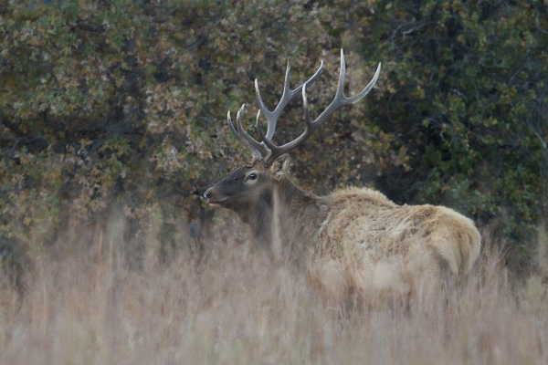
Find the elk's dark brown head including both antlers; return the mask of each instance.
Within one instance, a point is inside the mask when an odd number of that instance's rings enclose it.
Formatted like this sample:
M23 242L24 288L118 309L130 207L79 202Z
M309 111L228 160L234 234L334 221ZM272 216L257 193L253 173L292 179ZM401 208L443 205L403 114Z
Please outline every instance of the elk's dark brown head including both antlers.
M253 153L253 160L246 166L237 168L234 172L230 173L224 180L216 183L213 187L209 188L205 194L205 200L209 203L226 207L237 212L238 215L249 223L250 214L262 214L264 205L269 205L272 197L272 186L279 184L285 172L290 165L290 159L287 153L301 143L306 141L314 130L317 130L321 123L333 113L333 111L339 109L343 105L353 104L354 102L364 98L365 95L373 88L376 82L380 70L381 64L379 63L374 78L369 84L352 98L344 96L344 74L345 63L344 53L341 49L341 72L339 75L339 82L337 85L337 91L332 103L321 112L320 116L316 120L311 120L311 114L309 110L308 100L306 96L306 88L311 85L317 78L319 78L323 69L323 61L321 61L320 68L316 70L314 75L306 82L300 85L297 89L290 89L290 60L288 61L288 67L286 69L286 76L284 82L283 93L279 100L278 106L270 111L265 106L263 100L260 97L258 89L258 81L255 79L255 91L257 93L259 110L257 113L257 129L260 141L253 139L242 126L242 115L244 111L244 105L238 110L236 118L236 127L230 118L230 111L228 111L227 120L228 126L238 140L243 141ZM295 140L290 141L281 146L277 146L272 142L274 136L274 130L279 119L281 111L286 107L288 102L295 98L297 95L302 95L302 102L304 107L304 120L306 122L305 130ZM267 133L265 134L260 121L261 113L265 115L267 119Z

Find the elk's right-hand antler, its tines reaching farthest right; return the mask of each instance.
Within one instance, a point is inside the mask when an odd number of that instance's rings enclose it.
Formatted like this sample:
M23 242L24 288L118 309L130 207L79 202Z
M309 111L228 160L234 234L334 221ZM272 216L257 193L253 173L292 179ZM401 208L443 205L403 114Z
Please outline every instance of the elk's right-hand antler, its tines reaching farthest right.
M346 65L344 63L344 52L341 49L341 72L339 74L339 81L337 83L337 91L335 92L335 97L333 98L331 104L325 110L323 110L320 116L316 118L316 120L314 121L311 121L308 100L306 97L306 86L308 82L305 82L302 85L302 102L304 107L304 119L307 125L306 125L306 129L295 140L290 141L282 146L276 146L271 141L267 140L266 138L263 138L264 134L262 133L262 130L260 130L260 136L262 141L269 147L271 151L270 155L265 161L266 164L270 164L274 162L283 153L287 153L288 151L291 151L292 149L299 146L302 142L308 140L308 138L311 136L314 130L318 129L321 123L325 121L327 117L329 117L333 113L333 111L341 108L343 105L353 104L359 99L364 98L364 96L367 95L367 93L371 89L373 89L373 86L381 72L381 64L379 63L379 66L377 67L374 73L374 77L367 84L367 86L362 91L360 91L357 95L353 96L352 98L347 98L344 96L345 71L346 71ZM260 126L259 121L258 121L258 126Z

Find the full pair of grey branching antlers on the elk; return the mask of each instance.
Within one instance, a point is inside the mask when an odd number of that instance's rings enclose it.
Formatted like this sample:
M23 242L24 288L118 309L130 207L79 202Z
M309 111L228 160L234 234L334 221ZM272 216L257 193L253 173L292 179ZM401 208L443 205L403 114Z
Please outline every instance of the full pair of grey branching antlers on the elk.
M276 107L275 110L269 111L265 104L263 103L262 99L260 98L260 93L258 91L258 81L255 79L255 90L257 93L258 103L260 106L260 110L258 110L257 113L257 129L258 134L260 137L260 142L254 140L249 134L244 130L242 126L242 114L244 111L244 105L238 110L237 112L237 130L234 128L234 125L232 124L232 120L230 119L230 111L228 111L228 125L230 126L230 130L237 136L237 138L241 141L244 141L248 148L253 152L253 157L258 158L261 162L263 162L266 166L269 166L272 162L276 161L276 159L284 154L287 153L297 146L299 146L304 141L308 140L308 138L312 135L314 130L317 130L318 127L321 125L323 121L325 121L332 113L341 108L343 105L353 104L356 101L364 98L367 93L371 89L373 89L374 83L376 82L377 78L379 77L379 74L381 72L381 63L379 63L379 66L377 67L374 77L371 81L369 81L369 84L360 91L357 95L353 96L352 98L347 98L344 96L344 75L346 66L344 63L344 52L341 49L341 72L339 74L339 82L337 84L337 91L335 92L335 97L332 100L331 104L321 112L320 116L316 118L316 120L311 121L311 113L309 110L308 100L306 97L306 88L308 85L311 85L316 78L320 76L321 70L323 69L323 61L321 61L320 68L314 73L314 75L309 78L305 83L300 85L299 88L290 90L290 60L288 60L288 68L286 70L286 78L285 78L285 84L283 88L283 93L281 95L281 99L279 100L279 104ZM293 99L295 95L297 95L300 90L302 90L302 102L304 106L304 120L306 121L306 129L300 134L297 139L290 141L282 146L276 146L274 143L272 143L272 136L274 135L274 130L276 129L276 123L278 122L279 114L281 111L285 108L287 103L290 101L290 99ZM262 130L262 125L260 122L260 112L265 114L267 118L268 128L267 128L267 134L265 135L264 131Z

